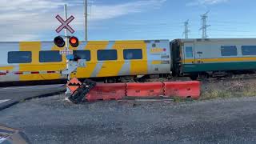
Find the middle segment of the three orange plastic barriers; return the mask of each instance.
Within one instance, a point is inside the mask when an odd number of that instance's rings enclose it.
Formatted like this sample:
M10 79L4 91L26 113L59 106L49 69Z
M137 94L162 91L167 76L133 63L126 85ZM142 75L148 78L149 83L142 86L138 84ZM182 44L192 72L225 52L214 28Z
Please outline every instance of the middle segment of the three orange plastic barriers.
M128 97L159 97L163 94L162 82L126 84L126 96Z

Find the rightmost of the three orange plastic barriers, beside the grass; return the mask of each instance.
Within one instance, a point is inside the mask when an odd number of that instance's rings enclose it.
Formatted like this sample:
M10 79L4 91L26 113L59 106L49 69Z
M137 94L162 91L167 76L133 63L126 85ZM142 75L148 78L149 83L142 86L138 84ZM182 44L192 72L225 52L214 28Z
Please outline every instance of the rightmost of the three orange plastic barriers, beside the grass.
M198 99L200 97L200 82L164 82L164 90L166 96Z

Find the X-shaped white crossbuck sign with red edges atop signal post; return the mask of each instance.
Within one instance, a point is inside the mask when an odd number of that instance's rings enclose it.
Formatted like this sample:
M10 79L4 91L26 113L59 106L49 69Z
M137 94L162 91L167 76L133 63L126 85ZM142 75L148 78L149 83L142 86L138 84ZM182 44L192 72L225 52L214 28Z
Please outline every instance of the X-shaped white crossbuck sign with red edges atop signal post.
M70 16L70 18L67 18L66 21L64 21L62 19L62 17L60 17L59 15L57 15L55 18L58 19L59 22L62 23L61 26L58 27L58 29L56 29L56 32L59 33L61 32L64 28L66 28L66 30L69 30L71 34L74 33L74 30L72 29L72 27L69 25L70 22L72 22L74 20L73 15Z

